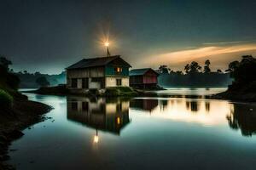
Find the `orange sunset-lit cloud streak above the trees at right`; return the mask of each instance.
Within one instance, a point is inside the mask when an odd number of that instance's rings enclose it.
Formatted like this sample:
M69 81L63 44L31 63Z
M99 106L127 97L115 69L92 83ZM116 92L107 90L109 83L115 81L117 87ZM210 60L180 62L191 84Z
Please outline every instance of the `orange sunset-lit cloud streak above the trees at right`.
M184 64L192 60L201 62L204 59L210 59L213 61L212 64L218 65L218 67L224 67L228 62L240 58L243 54L256 54L256 44L211 46L186 49L166 54L155 54L143 60L142 64L147 65L149 63L150 66L154 68L159 65L183 67Z

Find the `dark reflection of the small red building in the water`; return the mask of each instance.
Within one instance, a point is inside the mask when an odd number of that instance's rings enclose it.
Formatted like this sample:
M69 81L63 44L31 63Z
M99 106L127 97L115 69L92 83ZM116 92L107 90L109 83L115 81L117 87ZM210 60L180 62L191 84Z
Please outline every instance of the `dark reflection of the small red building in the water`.
M153 111L158 105L158 99L132 99L130 101L130 107L132 109Z

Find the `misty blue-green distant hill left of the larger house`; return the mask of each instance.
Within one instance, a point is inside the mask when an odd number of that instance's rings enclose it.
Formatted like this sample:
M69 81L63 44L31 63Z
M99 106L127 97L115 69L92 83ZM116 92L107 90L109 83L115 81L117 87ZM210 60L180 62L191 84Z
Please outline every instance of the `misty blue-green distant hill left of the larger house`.
M25 71L17 72L15 75L20 78L20 88L39 88L39 85L36 82L38 77L45 77L50 86L66 83L66 71L62 71L61 74L55 75L41 74L40 72L28 73Z

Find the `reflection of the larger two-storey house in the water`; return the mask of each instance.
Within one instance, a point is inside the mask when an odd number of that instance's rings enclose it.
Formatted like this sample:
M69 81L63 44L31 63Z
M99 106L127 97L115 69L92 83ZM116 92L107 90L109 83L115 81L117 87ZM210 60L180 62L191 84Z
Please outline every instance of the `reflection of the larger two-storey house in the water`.
M119 135L130 122L129 101L67 97L67 119Z

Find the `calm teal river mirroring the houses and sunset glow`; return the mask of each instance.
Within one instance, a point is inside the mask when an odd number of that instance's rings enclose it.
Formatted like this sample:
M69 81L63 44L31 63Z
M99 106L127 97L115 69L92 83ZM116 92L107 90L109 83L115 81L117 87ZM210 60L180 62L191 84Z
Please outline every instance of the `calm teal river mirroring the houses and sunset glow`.
M224 89L177 88L167 94ZM10 146L17 169L255 169L256 104L26 94L50 117Z

